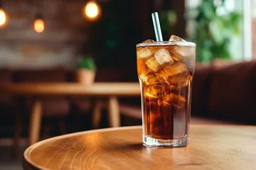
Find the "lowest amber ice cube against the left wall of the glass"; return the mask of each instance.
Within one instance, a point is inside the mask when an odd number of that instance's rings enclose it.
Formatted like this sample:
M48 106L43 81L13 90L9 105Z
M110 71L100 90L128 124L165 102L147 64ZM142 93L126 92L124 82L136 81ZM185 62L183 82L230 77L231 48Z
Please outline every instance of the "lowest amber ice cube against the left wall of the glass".
M153 84L145 87L145 96L150 98L160 98L166 96L167 87L164 84Z

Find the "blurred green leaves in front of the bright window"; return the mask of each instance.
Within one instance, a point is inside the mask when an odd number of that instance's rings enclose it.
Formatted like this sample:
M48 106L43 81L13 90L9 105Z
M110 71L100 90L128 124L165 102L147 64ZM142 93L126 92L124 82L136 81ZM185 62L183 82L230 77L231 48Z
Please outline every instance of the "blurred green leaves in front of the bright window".
M224 1L213 4L213 0L203 0L200 6L185 15L187 21L196 24L191 40L196 42L197 60L200 62L210 62L215 58L230 59L230 40L240 34L240 13L233 11L224 16L216 13L217 8L224 7Z

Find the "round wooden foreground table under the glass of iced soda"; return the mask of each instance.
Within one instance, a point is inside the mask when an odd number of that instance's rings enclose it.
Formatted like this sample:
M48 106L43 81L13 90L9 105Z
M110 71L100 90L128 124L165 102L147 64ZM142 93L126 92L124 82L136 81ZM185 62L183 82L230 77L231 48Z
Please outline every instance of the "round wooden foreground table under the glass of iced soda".
M191 125L187 147L149 148L142 128L53 137L28 147L23 169L256 169L256 126Z

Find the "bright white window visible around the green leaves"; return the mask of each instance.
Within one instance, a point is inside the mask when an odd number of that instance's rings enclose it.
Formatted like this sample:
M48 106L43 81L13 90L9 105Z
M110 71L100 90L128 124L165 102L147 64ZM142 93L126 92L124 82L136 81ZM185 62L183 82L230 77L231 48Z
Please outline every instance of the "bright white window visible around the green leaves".
M186 0L186 8L195 8L200 5L203 0ZM220 0L213 0L214 3L219 3ZM233 60L252 60L256 58L256 0L225 0L225 8L218 8L218 15L225 15L225 11L238 11L242 14L240 23L240 35L234 35L230 42L230 54ZM255 8L254 8L255 7ZM191 26L188 23L188 33L191 33ZM255 30L252 33L252 29ZM252 46L255 44L252 53ZM254 54L254 55L252 55Z

